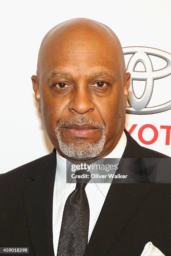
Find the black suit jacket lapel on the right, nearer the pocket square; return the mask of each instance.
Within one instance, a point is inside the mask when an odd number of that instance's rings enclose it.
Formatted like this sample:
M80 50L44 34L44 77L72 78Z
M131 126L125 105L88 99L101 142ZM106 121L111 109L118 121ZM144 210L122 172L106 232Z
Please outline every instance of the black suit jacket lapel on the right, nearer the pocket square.
M125 133L127 144L122 158L143 157L141 146L131 138L128 132ZM122 173L122 171L120 167L116 174ZM104 256L108 253L151 187L150 183L111 184L85 251L85 256ZM114 252L113 255L115 255Z

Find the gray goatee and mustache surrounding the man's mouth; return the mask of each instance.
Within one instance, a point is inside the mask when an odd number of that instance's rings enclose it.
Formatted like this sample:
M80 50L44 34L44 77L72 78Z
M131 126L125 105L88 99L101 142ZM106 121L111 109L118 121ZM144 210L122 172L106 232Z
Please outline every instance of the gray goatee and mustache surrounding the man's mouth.
M75 138L75 143L63 142L60 136L60 128L72 123L89 123L96 126L96 128L101 129L102 135L100 140L97 143L87 143L81 142L81 138L78 137ZM61 152L73 159L91 159L98 156L98 154L103 150L106 141L105 126L101 125L98 121L93 121L91 118L85 118L84 116L71 118L66 122L57 124L56 136Z

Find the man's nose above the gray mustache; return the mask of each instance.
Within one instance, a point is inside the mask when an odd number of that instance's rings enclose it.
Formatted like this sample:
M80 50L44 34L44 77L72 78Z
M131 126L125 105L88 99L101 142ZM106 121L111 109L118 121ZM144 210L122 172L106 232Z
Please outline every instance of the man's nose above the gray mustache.
M85 114L94 110L93 96L87 86L78 86L70 95L68 110L78 114Z

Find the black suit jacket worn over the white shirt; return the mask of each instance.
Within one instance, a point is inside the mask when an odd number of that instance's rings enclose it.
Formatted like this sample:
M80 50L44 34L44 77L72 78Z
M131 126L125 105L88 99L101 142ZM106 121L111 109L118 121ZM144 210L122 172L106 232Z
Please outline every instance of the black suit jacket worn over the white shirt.
M167 157L125 133L124 158ZM53 150L0 175L1 247L29 247L30 256L54 255L55 169ZM85 256L140 256L149 241L171 255L171 184L111 184Z

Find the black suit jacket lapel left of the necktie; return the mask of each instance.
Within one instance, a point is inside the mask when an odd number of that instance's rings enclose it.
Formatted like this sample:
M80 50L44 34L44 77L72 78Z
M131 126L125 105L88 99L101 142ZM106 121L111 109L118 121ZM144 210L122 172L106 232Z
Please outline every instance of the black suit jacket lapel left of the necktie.
M35 256L54 255L53 189L56 170L55 150L42 158L29 173L30 183L24 192L28 229Z

